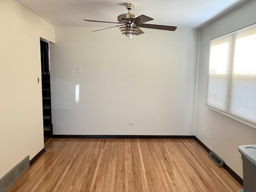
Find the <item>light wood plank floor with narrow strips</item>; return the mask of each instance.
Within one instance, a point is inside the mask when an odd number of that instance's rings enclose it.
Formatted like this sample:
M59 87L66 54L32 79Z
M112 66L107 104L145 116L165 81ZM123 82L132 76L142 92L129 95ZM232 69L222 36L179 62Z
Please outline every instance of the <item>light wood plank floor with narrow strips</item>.
M194 140L50 139L8 192L237 192Z

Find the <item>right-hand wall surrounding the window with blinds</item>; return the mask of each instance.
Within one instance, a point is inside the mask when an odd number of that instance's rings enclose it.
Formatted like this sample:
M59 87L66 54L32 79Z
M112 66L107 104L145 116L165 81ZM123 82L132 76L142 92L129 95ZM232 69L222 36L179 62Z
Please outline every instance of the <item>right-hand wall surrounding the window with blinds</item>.
M208 109L205 104L210 40L256 22L256 0L240 6L201 29L196 104L196 132L208 148L242 177L238 146L256 144L256 129Z

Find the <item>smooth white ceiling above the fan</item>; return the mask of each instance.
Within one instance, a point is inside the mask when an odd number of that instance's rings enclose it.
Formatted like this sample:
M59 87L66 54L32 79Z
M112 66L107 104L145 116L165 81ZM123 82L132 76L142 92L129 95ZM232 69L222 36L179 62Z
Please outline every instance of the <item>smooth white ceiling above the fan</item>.
M115 24L86 22L83 19L117 22L128 12L122 0L16 0L54 26L108 27ZM129 1L128 1L129 2ZM148 24L201 28L248 0L133 0L132 13L154 18Z

